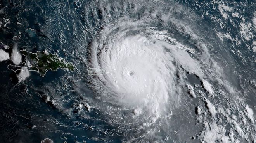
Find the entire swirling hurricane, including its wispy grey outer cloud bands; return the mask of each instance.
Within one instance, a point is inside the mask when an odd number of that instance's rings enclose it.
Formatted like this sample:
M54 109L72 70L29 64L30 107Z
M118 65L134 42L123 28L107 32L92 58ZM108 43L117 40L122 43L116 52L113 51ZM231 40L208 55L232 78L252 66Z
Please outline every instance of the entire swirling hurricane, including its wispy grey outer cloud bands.
M125 136L123 141L168 142L177 138L179 128L188 135L197 130L186 114L191 116L196 110L198 122L204 122L200 107L206 106L213 121L204 123L208 128L218 124L214 103L223 110L226 106L239 109L223 61L219 63L213 55L214 49L225 52L225 45L210 30L205 31L196 13L165 1L104 1L91 12L103 22L96 22L99 28L85 57L88 86L96 94L90 102L101 102L99 110L109 124L119 127L116 132ZM195 93L195 89L202 91ZM217 99L221 92L229 94L222 98L234 104ZM227 126L235 122L227 121ZM223 130L227 131L222 141L235 132ZM203 132L206 136L193 136L211 138L210 131Z

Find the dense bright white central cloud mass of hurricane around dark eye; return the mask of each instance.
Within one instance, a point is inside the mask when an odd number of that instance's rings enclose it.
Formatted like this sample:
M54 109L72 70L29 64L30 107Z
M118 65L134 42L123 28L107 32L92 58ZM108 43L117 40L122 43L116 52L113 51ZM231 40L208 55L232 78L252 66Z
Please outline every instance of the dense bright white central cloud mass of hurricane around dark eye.
M195 49L150 24L121 18L90 45L94 88L109 102L130 109L132 119L140 119L137 129L162 124L162 119L168 124L185 85L182 74L203 76L199 61L190 56Z

